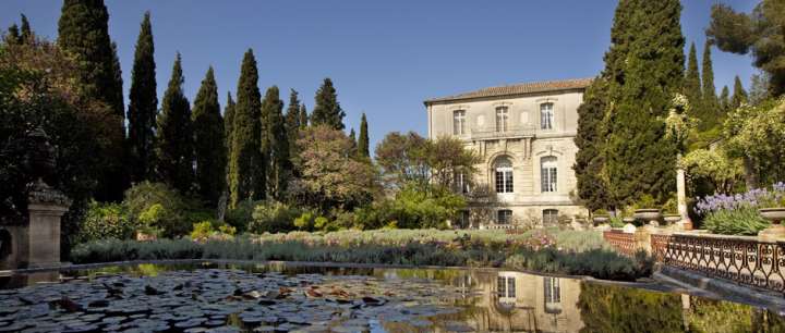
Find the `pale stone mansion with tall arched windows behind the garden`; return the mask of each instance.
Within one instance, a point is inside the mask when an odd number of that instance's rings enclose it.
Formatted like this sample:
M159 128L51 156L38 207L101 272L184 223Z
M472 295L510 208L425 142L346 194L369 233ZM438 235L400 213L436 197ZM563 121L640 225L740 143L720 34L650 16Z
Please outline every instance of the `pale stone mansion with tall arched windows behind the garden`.
M430 138L457 137L482 158L476 174L457 176L469 198L459 226L550 225L587 215L575 197L572 164L578 106L590 83L524 83L424 102Z

